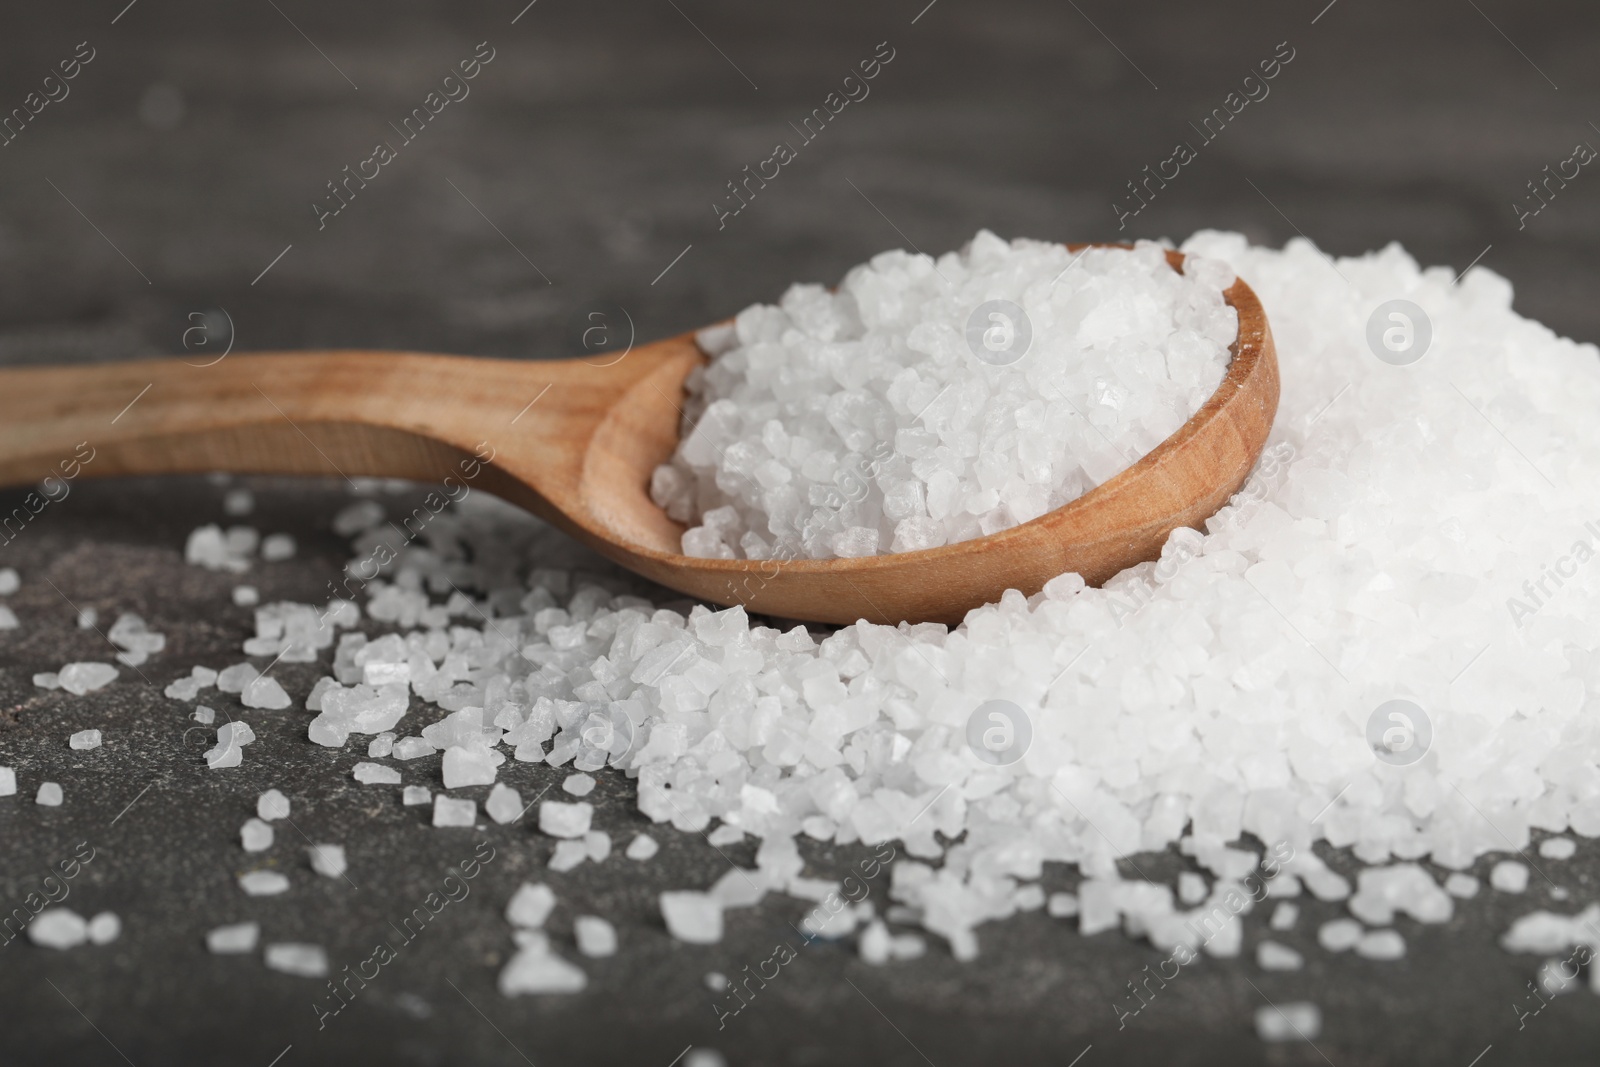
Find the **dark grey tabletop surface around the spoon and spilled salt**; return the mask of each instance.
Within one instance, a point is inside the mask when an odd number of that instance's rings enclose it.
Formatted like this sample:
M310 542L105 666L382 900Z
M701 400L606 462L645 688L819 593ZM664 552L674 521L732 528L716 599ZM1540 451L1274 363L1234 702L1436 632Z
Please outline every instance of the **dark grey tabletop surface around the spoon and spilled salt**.
M1600 338L1589 299L1600 179L1579 174L1525 224L1512 206L1576 142L1600 142L1592 5L523 3L8 5L5 110L80 42L93 59L0 147L0 365L202 358L198 334L186 349L197 322L213 325L206 354L232 339L240 350L568 355L574 323L597 307L626 309L642 338L666 336L797 278L832 282L882 248L954 248L981 226L1061 240L1222 227L1272 243L1304 234L1334 253L1400 240L1422 262L1477 258L1515 283L1523 314ZM480 42L494 58L470 96L318 229L310 205L325 182ZM725 184L880 42L894 58L870 96L718 227ZM1280 42L1294 59L1270 96L1118 230L1125 182L1190 138L1189 123ZM251 485L251 522L301 544L251 581L269 600L320 601L346 558L328 528L342 486ZM805 945L718 1025L702 974L738 974L795 941L800 904L734 915L718 945L674 942L654 894L709 885L726 861L664 832L645 867L557 877L568 902L558 941L578 904L621 928L622 952L586 965L589 990L504 1000L499 912L542 872L547 840L525 827L434 832L419 809L336 773L349 757L307 744L298 712L256 715L246 765L208 773L192 723L160 696L190 664L240 659L251 632L250 611L227 598L234 579L182 563L187 531L224 520L221 493L203 478L80 483L0 555L24 576L10 598L22 627L0 635L0 763L22 781L0 800L0 901L11 909L88 841L94 861L69 904L125 921L107 949L0 947L0 1062L667 1067L702 1045L731 1064L786 1065L1499 1067L1592 1062L1600 1049L1592 995L1518 1021L1536 960L1496 945L1518 913L1594 899L1600 848L1589 841L1552 865L1573 894L1565 904L1534 878L1525 896L1480 896L1443 926L1402 921L1410 953L1397 963L1317 952L1312 931L1339 909L1302 902L1282 939L1309 949L1304 971L1250 961L1258 921L1242 960L1186 971L1125 1029L1112 1005L1162 955L1043 913L982 928L982 955L965 965L938 942L890 968L848 945ZM8 491L0 510L16 502ZM144 667L157 686L125 677L82 699L35 689L34 672L109 651L75 625L74 605L136 611L168 633ZM320 673L280 672L296 696ZM107 744L69 752L66 734L85 725L104 726ZM507 776L528 793L558 773L515 765ZM66 787L62 808L30 801L46 777ZM472 896L323 1027L320 984L202 947L205 929L245 910L237 827L269 785L294 797L306 835L347 843L355 885L318 880L250 913L274 936L326 944L336 966L363 958L472 841L496 846ZM602 776L597 800L614 835L646 825L621 776ZM280 835L277 848L291 862L294 841ZM750 862L750 846L728 851ZM821 875L859 854L806 857ZM1181 862L1141 857L1163 877ZM1045 881L1074 878L1051 869ZM1254 1009L1301 998L1323 1009L1315 1046L1258 1041Z

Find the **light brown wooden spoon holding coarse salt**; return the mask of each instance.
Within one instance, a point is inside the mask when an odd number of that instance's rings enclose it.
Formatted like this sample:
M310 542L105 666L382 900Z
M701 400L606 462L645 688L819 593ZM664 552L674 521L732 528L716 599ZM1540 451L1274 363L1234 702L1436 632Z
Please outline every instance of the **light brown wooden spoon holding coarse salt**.
M1168 261L1182 267L1179 253ZM958 622L1006 589L1030 595L1067 571L1098 585L1155 558L1173 530L1200 525L1238 491L1272 427L1278 366L1256 294L1237 282L1226 296L1238 312L1232 365L1176 434L1066 507L925 552L787 561L682 555L683 528L656 507L648 485L678 443L683 379L704 362L693 334L624 358L282 352L210 366L139 360L5 370L0 485L59 480L64 464L78 477L414 478L446 498L461 486L494 493L702 600L814 622ZM88 462L83 443L93 450ZM6 536L30 517L29 507L0 515Z

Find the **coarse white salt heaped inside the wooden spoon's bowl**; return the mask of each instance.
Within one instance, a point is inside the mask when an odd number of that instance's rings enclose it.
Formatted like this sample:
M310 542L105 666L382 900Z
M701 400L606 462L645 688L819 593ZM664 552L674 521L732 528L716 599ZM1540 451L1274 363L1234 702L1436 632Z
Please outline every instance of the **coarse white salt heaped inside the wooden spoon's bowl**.
M890 251L837 293L701 331L683 442L651 480L683 552L912 552L1038 518L1128 467L1216 392L1238 317L1224 264L1006 243Z

